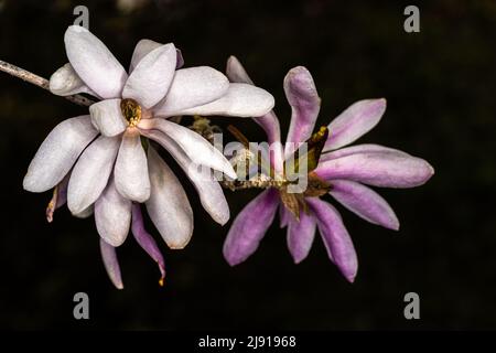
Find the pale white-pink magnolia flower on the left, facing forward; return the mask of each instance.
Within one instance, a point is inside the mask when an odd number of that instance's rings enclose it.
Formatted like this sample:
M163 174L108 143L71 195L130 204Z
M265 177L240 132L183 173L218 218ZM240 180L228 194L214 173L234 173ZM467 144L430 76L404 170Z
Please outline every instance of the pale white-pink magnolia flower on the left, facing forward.
M202 136L166 118L258 116L273 107L273 97L251 85L229 84L212 67L176 69L182 57L172 43L140 41L128 74L86 29L69 26L64 41L69 63L52 75L51 92L86 93L101 100L89 107L89 115L64 120L50 132L31 161L24 189L44 192L67 178L68 208L76 216L94 208L98 233L112 247L129 233L136 218L131 213L138 214L132 212L133 203L144 203L169 247L183 248L193 233L193 212L177 178L148 142L150 138L172 154L198 191L204 208L225 224L229 207L222 188L190 167L204 165L230 178L236 173ZM109 268L111 252L103 249Z

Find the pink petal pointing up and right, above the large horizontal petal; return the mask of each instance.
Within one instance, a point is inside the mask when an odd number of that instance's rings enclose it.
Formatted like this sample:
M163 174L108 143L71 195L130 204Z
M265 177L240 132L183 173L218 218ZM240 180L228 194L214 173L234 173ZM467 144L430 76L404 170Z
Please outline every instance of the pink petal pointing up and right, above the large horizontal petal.
M370 131L386 111L386 99L365 99L351 105L328 125L324 151L349 145Z

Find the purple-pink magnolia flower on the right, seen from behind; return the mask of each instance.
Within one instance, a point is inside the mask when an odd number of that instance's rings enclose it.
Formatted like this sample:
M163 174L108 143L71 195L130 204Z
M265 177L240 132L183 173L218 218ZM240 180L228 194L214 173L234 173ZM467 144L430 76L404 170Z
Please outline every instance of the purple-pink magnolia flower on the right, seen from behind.
M233 82L252 84L236 57L228 61L227 76ZM315 136L325 136L323 153L316 168L309 170L309 186L303 194L289 195L284 190L270 188L239 213L224 244L224 256L231 266L247 259L259 246L279 207L281 227L288 226L287 242L294 261L298 264L308 256L319 228L328 257L345 278L353 281L358 261L349 234L337 210L319 196L328 192L359 217L397 231L399 222L395 212L366 184L413 188L425 183L434 170L423 159L379 145L346 147L379 122L386 110L385 99L353 104L327 126L327 138L326 128L312 136L320 98L306 68L299 66L288 73L284 92L292 108L287 142L304 142ZM273 113L256 121L266 130L270 143L280 141L279 121ZM271 159L276 172L283 170L284 159L293 151L290 143L284 152L278 153L276 149ZM299 207L306 210L299 212Z

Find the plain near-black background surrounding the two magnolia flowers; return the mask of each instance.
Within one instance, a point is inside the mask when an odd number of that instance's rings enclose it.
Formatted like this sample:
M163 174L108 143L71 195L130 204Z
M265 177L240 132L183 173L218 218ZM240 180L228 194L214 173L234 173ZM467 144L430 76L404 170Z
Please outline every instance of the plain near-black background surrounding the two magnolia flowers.
M282 79L293 66L314 76L320 124L355 100L386 97L385 117L360 142L420 156L436 173L416 190L380 191L400 218L398 233L343 212L360 264L354 285L331 264L319 237L294 266L276 223L259 250L230 268L222 256L227 226L208 217L185 182L195 234L184 252L160 242L165 287L130 237L119 248L126 288L118 291L101 264L94 221L63 210L47 224L51 194L22 190L48 131L85 109L0 73L1 328L496 328L494 1L417 2L421 32L412 34L403 31L410 1L164 0L131 12L115 1L0 1L0 58L50 77L66 62L63 34L77 4L89 8L91 32L126 66L142 38L173 41L186 66L224 71L228 55L237 55L274 95L283 133L290 109ZM265 138L250 120L216 120L226 121L251 140ZM226 194L236 215L257 191ZM88 321L73 319L78 291L89 295ZM417 321L403 318L409 291L420 295Z

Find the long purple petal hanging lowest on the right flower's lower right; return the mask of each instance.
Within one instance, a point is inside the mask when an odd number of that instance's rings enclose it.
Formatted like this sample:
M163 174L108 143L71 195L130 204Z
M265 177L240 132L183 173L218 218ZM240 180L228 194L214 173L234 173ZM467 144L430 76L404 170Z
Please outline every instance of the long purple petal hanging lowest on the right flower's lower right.
M339 213L331 204L316 197L306 199L306 202L315 214L328 257L343 276L353 282L358 270L358 259Z

